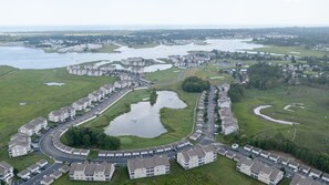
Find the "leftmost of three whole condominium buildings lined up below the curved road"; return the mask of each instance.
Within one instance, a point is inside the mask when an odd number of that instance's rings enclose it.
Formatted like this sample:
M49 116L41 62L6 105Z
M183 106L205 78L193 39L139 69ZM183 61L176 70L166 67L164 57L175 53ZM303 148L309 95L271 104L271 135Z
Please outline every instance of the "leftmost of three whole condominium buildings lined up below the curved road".
M112 163L72 163L70 168L70 179L74 181L97 181L110 182L115 167Z

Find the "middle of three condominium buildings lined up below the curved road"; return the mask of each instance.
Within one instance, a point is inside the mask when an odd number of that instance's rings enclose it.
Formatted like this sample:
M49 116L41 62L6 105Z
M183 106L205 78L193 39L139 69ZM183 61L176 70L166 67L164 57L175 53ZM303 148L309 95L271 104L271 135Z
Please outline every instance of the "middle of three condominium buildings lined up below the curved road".
M171 164L167 156L155 155L153 157L128 160L127 168L130 178L134 179L168 174Z

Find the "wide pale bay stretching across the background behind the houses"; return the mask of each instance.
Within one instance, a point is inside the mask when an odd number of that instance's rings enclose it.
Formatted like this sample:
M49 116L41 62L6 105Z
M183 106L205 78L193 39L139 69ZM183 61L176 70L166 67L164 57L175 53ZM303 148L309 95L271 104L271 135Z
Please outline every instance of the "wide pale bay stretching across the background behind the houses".
M146 49L132 49L122 47L119 53L45 53L42 50L24 47L0 47L0 65L11 65L19 69L52 69L68 66L72 64L110 60L120 61L126 58L160 59L172 54L184 55L188 51L212 51L214 49L223 51L238 51L260 48L263 45L248 43L250 40L207 40L208 44L196 45L158 45ZM161 66L162 69L167 69ZM157 69L153 69L157 70ZM147 70L152 71L152 70Z

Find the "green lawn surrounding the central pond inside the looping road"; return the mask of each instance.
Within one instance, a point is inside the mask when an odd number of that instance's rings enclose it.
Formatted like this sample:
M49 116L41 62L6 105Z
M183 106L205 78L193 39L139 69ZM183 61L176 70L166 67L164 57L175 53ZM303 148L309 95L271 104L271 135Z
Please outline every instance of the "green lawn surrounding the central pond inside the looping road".
M181 90L181 83L174 85L162 86L157 90L175 91L179 99L182 99L188 106L182 110L162 109L161 121L168 131L155 138L142 138L137 136L120 136L121 150L143 148L150 146L157 146L163 144L173 143L183 137L186 137L193 127L194 110L198 94L186 93ZM131 92L125 97L120 100L111 106L104 114L96 120L88 122L84 126L103 130L116 116L128 112L132 103L137 103L145 97L150 97L150 90L138 90Z

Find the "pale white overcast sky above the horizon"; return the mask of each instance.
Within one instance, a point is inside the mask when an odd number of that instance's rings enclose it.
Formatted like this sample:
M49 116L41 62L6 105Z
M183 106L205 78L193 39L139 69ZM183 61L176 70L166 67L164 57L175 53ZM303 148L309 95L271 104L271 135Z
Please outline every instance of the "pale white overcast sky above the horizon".
M329 25L329 0L0 0L0 25Z

